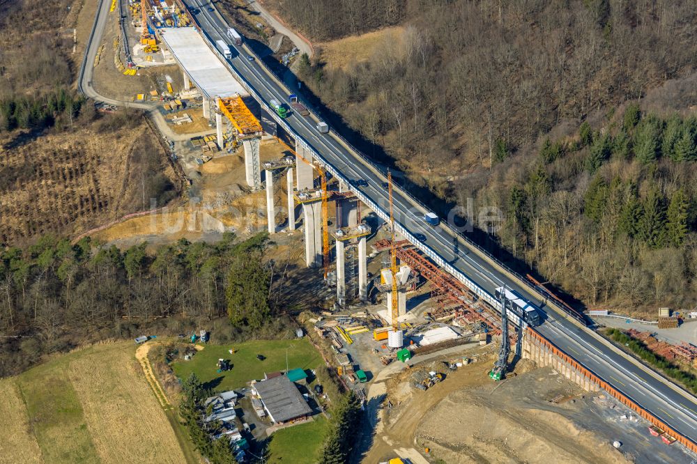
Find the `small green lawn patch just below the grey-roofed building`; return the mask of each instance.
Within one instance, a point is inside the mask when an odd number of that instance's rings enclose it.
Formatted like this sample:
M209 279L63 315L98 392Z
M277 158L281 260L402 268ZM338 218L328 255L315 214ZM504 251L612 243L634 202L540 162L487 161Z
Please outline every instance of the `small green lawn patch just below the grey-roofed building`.
M316 463L322 449L328 421L323 415L314 422L282 428L271 435L268 463Z

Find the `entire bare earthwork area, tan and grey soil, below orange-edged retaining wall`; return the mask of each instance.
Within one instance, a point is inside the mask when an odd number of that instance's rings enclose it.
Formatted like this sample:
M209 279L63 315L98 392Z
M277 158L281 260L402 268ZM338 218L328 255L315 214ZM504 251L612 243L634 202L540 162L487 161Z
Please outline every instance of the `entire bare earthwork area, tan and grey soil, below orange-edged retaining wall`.
M387 461L395 454L414 463L684 460L680 449L650 437L643 419L606 394L584 392L553 369L535 369L523 360L516 376L491 382L493 351L470 347L423 362L417 357L411 369L397 363L379 374L367 393L376 433L363 444L362 461ZM462 357L475 362L456 371L445 368L443 361ZM415 372L433 370L445 379L427 391L414 387ZM613 447L616 440L620 449ZM422 454L428 461L419 460Z

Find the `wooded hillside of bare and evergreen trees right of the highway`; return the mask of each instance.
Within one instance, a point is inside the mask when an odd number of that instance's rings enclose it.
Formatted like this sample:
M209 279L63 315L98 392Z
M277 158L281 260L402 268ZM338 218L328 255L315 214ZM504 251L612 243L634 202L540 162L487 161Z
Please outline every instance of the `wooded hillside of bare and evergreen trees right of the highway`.
M585 304L694 307L697 5L407 0L402 10L401 40L368 61L300 65L367 141L355 143L435 192L441 212L468 197L500 208L503 227L477 240Z

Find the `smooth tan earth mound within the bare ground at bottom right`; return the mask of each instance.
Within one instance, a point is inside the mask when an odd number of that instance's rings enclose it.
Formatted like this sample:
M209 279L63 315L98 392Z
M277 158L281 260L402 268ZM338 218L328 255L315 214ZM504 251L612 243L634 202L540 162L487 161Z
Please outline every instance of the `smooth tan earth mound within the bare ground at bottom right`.
M524 404L521 404L523 406ZM557 412L453 392L424 417L418 442L447 463L625 463L619 451Z

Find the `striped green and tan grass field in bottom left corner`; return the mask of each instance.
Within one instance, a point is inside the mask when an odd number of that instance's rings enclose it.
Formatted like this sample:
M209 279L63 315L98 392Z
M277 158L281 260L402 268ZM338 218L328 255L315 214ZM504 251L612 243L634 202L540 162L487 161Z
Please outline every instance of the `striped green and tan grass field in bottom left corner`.
M187 462L134 353L93 346L1 380L0 463Z

